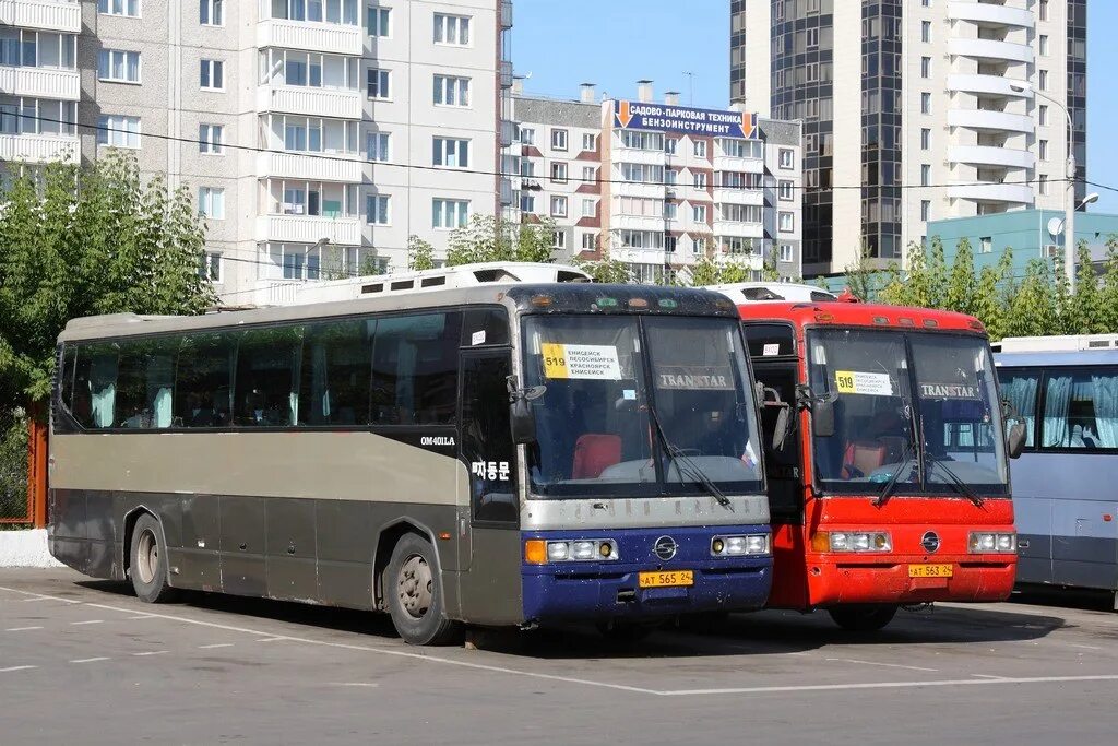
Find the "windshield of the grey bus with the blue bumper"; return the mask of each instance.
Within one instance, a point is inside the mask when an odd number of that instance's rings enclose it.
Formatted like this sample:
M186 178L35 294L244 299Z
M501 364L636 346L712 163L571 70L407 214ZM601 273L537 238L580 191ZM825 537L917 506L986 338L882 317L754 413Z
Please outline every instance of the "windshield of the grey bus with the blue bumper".
M656 497L762 490L739 325L700 317L524 320L533 494Z

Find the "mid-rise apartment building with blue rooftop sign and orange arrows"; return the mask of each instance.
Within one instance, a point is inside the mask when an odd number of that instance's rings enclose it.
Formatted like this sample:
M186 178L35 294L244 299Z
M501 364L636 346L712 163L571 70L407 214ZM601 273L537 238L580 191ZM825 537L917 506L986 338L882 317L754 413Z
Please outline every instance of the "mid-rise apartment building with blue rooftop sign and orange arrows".
M652 83L636 100L514 96L524 220L556 221L558 256L608 252L642 282L703 257L800 276L798 123L681 106Z

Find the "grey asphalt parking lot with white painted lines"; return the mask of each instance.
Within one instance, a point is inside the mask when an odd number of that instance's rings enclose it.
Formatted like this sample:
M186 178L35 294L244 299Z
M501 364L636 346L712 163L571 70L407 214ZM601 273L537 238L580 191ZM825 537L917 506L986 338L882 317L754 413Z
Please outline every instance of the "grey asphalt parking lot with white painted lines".
M1071 604L1070 607L1057 604ZM1049 595L416 649L387 617L0 569L0 745L1112 744L1118 614Z

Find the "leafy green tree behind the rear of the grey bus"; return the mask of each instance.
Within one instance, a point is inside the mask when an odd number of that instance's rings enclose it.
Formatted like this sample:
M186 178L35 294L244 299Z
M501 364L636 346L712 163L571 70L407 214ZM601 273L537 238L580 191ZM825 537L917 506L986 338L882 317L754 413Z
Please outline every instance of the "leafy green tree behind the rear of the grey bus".
M200 313L216 301L200 273L206 226L186 188L143 185L135 159L116 153L39 173L0 193L0 378L34 400L50 391L68 320Z

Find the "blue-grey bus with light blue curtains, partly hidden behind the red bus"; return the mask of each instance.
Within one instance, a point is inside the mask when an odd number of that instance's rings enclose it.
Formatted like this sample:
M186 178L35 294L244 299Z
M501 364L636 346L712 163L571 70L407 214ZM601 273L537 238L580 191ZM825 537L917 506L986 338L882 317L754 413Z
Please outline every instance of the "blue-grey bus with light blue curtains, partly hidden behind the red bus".
M1017 584L1105 589L1118 610L1118 334L997 347L1027 431L1013 463Z

